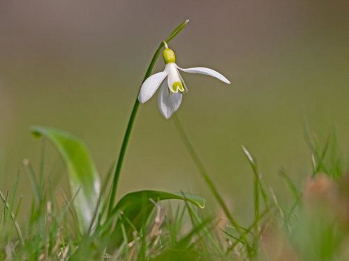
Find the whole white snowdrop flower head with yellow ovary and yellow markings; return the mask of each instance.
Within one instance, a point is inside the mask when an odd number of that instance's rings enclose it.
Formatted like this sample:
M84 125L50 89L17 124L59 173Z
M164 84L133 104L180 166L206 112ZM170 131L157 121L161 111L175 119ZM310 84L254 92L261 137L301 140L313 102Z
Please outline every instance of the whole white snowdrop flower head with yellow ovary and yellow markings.
M166 42L164 42L165 49L163 50L163 60L165 61L165 70L158 72L147 78L140 88L140 94L138 100L141 103L147 102L156 92L158 87L161 85L158 93L158 109L165 118L170 118L172 114L177 111L181 104L182 93L186 93L188 88L184 84L179 70L189 73L200 73L206 74L230 84L230 81L226 79L222 74L215 70L205 67L194 67L194 68L180 68L176 64L176 56L174 52L168 48ZM167 81L164 81L167 77Z

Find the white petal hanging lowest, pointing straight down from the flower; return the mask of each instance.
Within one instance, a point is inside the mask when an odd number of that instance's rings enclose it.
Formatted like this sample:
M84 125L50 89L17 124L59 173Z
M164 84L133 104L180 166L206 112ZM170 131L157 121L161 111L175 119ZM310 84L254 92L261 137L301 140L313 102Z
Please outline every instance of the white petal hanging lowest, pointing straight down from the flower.
M168 85L164 82L158 93L158 109L165 118L170 118L181 105L181 93L170 93Z

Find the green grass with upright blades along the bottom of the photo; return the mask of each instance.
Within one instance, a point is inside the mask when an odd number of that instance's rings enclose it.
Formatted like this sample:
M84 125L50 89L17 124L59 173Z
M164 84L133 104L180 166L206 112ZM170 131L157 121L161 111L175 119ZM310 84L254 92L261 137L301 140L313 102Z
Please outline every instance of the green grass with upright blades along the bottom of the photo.
M254 205L254 211L251 213L254 220L249 226L244 227L235 219L235 213L225 204L219 189L205 171L204 163L200 161L178 118L175 123L184 141L184 148L189 150L193 163L211 189L212 197L216 199L216 209L222 209L221 212L213 216L207 214L208 209L203 208L205 201L193 194L180 191L135 191L119 200L108 214L105 195L110 191L110 171L101 182L101 193L97 197L94 217L90 220L91 226L84 228L81 227L81 219L77 214L79 211L83 213L84 206L75 204L82 188L72 193L70 198L59 192L64 198L63 202L60 202L55 196L57 191L52 189L50 173L42 173L41 166L45 164L45 154L42 153L43 159L37 171L29 160L24 160L34 192L25 222L17 222L21 205L21 197L17 191L19 176L11 189L0 193L3 203L0 220L0 260L348 258L345 246L348 240L349 230L346 227L349 215L341 209L349 203L349 182L343 172L338 172L339 168L332 166L337 162L332 159L339 159L339 152L330 149L332 146L336 147L336 144L327 145L327 141L324 141L324 145L318 146L318 150L311 150L311 153L324 155L320 157L321 161L315 161L315 168L321 165L325 170L334 170L334 173L309 173L308 180L302 187L295 184L284 170L281 171L280 178L285 180L285 189L291 192L290 203L283 205L279 204L278 196L272 189L267 189L268 185L262 180L255 157L242 147L242 153L247 159L246 164L251 166L251 174L246 174L254 177L251 202L251 205ZM43 129L45 128L35 127L34 131L36 134L43 134ZM57 129L47 128L45 132L59 134L61 139L76 139L79 144L82 142L72 134ZM336 141L333 137L332 135L332 143ZM67 150L70 153L76 152L76 149L71 147L74 147L75 143L63 143L68 146ZM45 150L45 145L42 150ZM80 157L81 155L69 160ZM67 166L69 164L71 163L66 162ZM166 199L183 201L181 204L165 201L161 203L161 200Z

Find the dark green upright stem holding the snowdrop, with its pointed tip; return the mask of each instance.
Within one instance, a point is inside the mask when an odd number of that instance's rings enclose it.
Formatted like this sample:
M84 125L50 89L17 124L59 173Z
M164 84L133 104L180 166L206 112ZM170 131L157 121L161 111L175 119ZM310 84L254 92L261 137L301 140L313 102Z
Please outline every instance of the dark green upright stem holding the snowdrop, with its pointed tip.
M183 23L179 24L179 26L177 26L177 28L174 29L170 33L170 35L165 40L165 42L170 42L170 40L172 40L181 30L184 29L184 27L186 26L186 24L188 24L188 22L189 22L189 20L186 20ZM154 65L156 63L156 60L158 59L158 56L160 55L161 49L163 47L164 47L164 42L161 42L160 45L158 46L158 49L156 49L156 52L154 53L153 58L151 59L151 62L149 64L149 66L148 66L147 72L144 75L144 79L143 79L142 83L150 76L150 74L151 74L151 72L152 72L152 70L154 68ZM112 208L114 207L114 200L115 200L115 196L117 194L117 184L119 183L119 177L120 177L120 173L121 173L122 164L124 162L124 157L125 157L125 154L126 154L128 141L129 141L130 136L131 136L133 123L135 122L135 116L137 115L139 106L140 106L140 102L138 102L138 98L136 97L135 103L133 104L133 109L132 109L132 112L131 112L131 116L128 119L126 132L124 134L124 139L123 139L122 144L121 144L119 157L117 159L117 166L115 168L114 178L112 180L112 190L111 190L111 193L110 193L108 215L110 215L110 213L112 212Z

